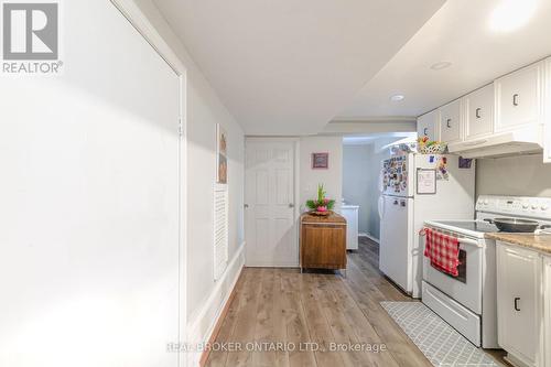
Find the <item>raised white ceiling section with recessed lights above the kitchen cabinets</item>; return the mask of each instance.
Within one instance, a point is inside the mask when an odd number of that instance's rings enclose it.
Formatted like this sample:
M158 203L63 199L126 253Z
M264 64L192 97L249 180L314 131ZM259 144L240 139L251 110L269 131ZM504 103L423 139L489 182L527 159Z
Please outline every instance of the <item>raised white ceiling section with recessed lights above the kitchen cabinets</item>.
M510 32L496 32L495 11L507 3L521 4L512 20L525 17L528 22ZM422 115L550 55L550 0L447 0L338 118ZM430 68L441 61L452 66ZM406 98L390 101L396 94Z

